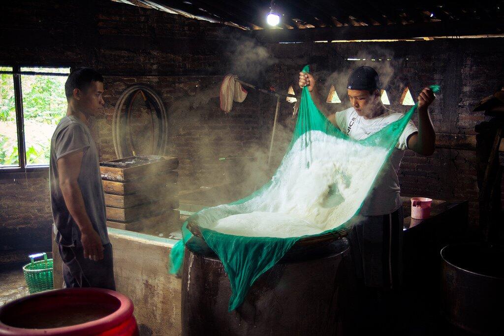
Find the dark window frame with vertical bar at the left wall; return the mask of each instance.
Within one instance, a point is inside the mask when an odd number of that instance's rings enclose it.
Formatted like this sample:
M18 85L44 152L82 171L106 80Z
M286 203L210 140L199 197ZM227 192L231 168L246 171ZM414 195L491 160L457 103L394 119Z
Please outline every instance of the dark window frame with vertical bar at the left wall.
M16 107L16 130L18 136L18 167L2 167L0 166L0 174L2 173L18 173L18 172L33 172L33 171L48 171L49 164L45 165L26 165L26 144L25 144L25 120L24 120L24 110L23 110L23 91L21 87L21 76L22 75L50 75L50 76L65 76L68 77L69 74L62 73L49 73L49 72L36 72L36 71L21 71L21 68L70 68L70 73L75 69L75 64L69 63L58 63L57 65L27 65L27 64L8 64L1 63L0 66L6 68L12 68L12 71L0 71L0 74L8 74L13 76L14 82L14 101Z

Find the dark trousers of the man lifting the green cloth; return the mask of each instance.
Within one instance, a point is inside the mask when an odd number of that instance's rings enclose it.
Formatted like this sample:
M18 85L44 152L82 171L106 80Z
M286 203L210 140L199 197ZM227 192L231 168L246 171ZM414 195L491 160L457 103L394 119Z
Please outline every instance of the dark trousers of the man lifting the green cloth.
M366 287L397 289L402 281L403 208L358 215L348 235L357 278Z

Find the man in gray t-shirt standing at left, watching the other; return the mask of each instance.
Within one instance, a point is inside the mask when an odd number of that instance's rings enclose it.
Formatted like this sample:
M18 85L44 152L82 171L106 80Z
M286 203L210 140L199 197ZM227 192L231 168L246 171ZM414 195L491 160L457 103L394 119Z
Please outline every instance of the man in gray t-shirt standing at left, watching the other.
M103 108L103 78L90 68L65 84L67 115L51 138L49 179L54 233L66 287L115 289L112 246L98 152L88 120Z

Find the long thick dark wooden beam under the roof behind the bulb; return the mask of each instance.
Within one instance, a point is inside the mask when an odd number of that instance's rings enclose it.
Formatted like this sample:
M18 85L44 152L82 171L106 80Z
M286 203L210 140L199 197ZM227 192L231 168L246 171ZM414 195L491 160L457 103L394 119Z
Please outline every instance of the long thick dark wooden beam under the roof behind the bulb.
M504 20L427 22L407 25L344 26L310 29L263 29L251 34L263 43L333 40L410 39L423 36L466 36L502 34Z

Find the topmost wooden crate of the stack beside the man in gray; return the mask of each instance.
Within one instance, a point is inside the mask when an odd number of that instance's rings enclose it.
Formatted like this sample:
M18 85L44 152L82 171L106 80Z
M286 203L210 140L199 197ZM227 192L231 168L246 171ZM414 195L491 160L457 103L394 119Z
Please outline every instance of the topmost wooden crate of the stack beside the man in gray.
M178 168L178 158L157 155L137 155L100 163L101 178L128 182Z

